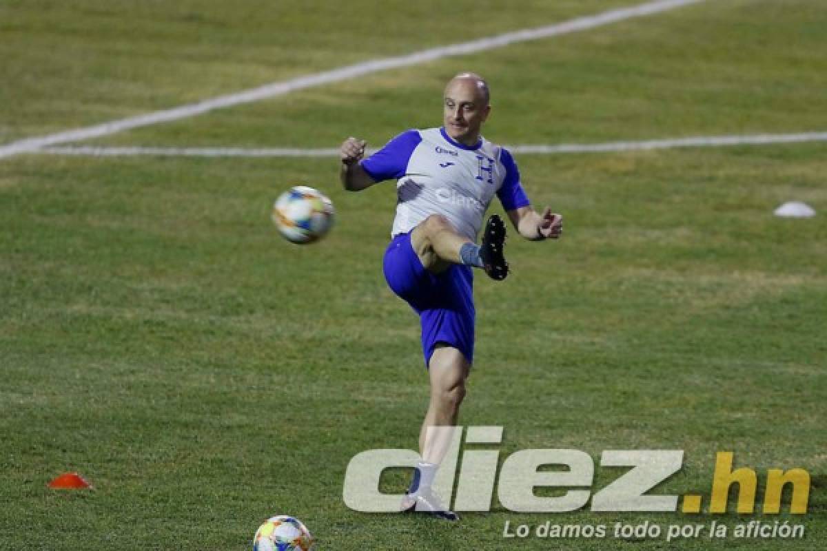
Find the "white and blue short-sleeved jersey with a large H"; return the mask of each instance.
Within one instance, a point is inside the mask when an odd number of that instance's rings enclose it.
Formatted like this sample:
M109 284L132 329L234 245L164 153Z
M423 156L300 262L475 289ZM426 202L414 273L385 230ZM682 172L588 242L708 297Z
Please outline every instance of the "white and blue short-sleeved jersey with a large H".
M483 138L463 145L444 128L405 131L360 164L376 182L396 179L391 236L441 214L459 234L476 241L495 195L506 211L528 205L508 150Z

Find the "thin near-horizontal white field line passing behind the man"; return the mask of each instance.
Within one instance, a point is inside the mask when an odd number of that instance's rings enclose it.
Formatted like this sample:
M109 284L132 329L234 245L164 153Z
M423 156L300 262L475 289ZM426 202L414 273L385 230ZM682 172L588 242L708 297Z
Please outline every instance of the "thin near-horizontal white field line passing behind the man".
M610 141L603 144L506 145L516 154L599 153L609 151L666 150L677 147L723 147L727 145L795 144L827 141L827 132L799 134L710 135L670 140ZM367 150L368 154L375 150ZM53 146L34 153L55 155L87 155L93 157L127 157L136 155L160 157L335 157L336 148L257 148L237 147L98 147L93 145Z

